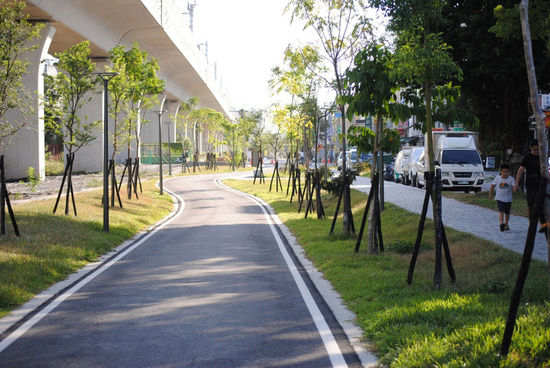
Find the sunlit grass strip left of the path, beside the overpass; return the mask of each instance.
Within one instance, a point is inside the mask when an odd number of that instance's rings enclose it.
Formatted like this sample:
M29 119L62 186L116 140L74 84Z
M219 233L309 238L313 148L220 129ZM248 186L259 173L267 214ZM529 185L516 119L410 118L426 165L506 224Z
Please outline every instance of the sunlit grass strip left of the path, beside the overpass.
M0 317L168 215L172 199L159 195L155 180L142 184L140 199L122 196L123 208L109 210L108 234L100 189L76 193L76 217L72 208L64 215L65 196L55 214L55 199L14 205L21 237L8 216L8 235L0 238Z

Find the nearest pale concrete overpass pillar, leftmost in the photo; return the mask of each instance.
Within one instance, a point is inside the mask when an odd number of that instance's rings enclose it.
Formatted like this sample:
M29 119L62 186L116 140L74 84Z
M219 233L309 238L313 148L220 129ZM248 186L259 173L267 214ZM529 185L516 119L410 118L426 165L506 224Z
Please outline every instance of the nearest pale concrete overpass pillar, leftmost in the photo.
M36 40L39 47L32 53L21 56L30 63L29 73L23 76L23 85L30 92L34 115L29 118L27 125L32 129L21 129L12 137L13 147L4 153L6 179L26 177L29 167L34 168L34 173L39 174L41 179L45 177L44 107L39 100L39 94L44 94L44 66L41 61L47 58L55 32L56 29L50 25L44 27L41 30L41 39ZM7 121L21 121L21 111L8 111L4 117Z

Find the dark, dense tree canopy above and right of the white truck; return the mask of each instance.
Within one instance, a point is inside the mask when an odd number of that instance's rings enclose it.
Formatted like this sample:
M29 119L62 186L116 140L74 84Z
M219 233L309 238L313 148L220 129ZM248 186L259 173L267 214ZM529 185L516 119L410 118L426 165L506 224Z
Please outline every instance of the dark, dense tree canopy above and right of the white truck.
M465 0L443 9L446 23L437 30L452 46L463 72L459 103L478 116L481 147L499 156L523 153L530 134L529 87L521 40L518 1ZM531 1L533 57L540 91L550 90L547 42L548 1ZM491 144L494 143L494 144Z

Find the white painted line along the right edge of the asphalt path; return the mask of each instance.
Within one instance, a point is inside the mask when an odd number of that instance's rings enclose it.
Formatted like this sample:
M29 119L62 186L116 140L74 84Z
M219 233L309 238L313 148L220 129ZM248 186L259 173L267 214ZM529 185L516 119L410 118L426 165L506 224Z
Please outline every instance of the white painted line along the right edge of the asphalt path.
M300 294L302 294L302 298L304 299L305 304L307 305L307 309L309 310L309 314L311 314L311 317L314 319L315 325L317 327L317 330L321 336L322 342L325 345L325 349L327 349L327 352L329 353L329 358L331 360L333 367L347 367L346 360L344 360L344 356L342 354L342 351L340 350L340 347L338 347L338 343L336 343L336 339L334 338L331 329L329 325L327 324L327 321L325 321L325 317L322 316L321 311L319 310L319 307L317 303L315 303L314 297L311 296L311 292L309 292L309 289L307 288L307 285L305 284L305 281L302 279L300 272L298 272L298 269L294 265L294 262L292 261L292 258L290 257L289 253L287 252L287 248L285 248L285 244L283 243L283 240L279 236L273 221L270 217L270 215L267 213L267 210L265 210L264 204L261 199L254 197L254 195L250 195L248 193L243 193L241 191L236 191L233 188L230 188L229 186L226 186L221 182L221 180L224 180L225 177L218 178L214 180L214 182L221 186L222 188L228 189L229 191L232 191L234 193L237 193L239 195L243 195L245 197L248 197L252 199L263 211L263 214L265 215L265 219L267 219L267 224L270 225L271 231L273 233L273 236L275 240L277 241L279 250L281 251L281 254L283 255L283 258L285 259L285 262L287 263L287 267L290 270L290 273L292 274L292 277L294 278L294 282L298 286L298 290L300 290ZM265 204L267 205L267 204Z

